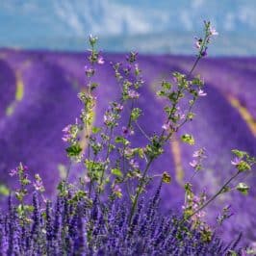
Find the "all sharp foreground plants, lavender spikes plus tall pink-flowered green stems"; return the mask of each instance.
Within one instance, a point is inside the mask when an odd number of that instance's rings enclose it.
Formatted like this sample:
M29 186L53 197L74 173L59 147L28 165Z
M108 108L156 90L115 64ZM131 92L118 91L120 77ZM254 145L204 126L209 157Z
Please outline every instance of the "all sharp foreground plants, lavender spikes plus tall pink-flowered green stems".
M244 194L248 186L243 182L231 187L241 173L249 171L256 159L246 152L233 150L232 165L236 172L209 199L206 192L199 196L192 192L192 179L201 169L205 149L193 154L190 165L192 178L185 184L183 215L171 213L162 217L158 212L163 183L170 183L166 171L150 200L145 200L147 185L156 183L150 173L152 163L165 153L164 146L188 121L194 118L193 106L206 96L204 83L193 71L200 59L207 55L211 39L218 35L210 22L204 22L204 37L196 38L197 57L189 74L174 72L170 81L163 81L157 95L166 102L166 120L161 132L147 134L138 107L143 79L137 62L138 53L131 52L125 63L112 63L120 97L110 103L103 116L102 127L93 125L97 98L94 81L97 65L105 61L96 49L97 38L90 36L90 55L85 66L86 90L78 94L83 109L74 124L64 128L63 141L70 165L58 186L56 202L43 197L40 177L35 176L33 204L26 204L31 181L27 169L20 164L11 171L17 175L20 188L15 191L17 206L10 197L9 212L0 217L0 250L3 255L222 255L234 250L237 241L224 245L214 230L204 221L204 209L218 195L234 189ZM120 127L126 113L126 124ZM147 141L134 147L136 131ZM85 138L83 138L85 137ZM191 134L183 134L181 141L194 144ZM86 151L82 140L87 141ZM69 172L74 163L84 165L78 183L70 183ZM128 198L128 199L127 199ZM218 216L218 225L232 215L227 206ZM235 238L234 238L235 239Z

